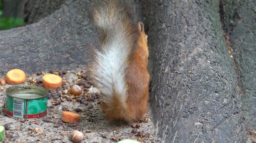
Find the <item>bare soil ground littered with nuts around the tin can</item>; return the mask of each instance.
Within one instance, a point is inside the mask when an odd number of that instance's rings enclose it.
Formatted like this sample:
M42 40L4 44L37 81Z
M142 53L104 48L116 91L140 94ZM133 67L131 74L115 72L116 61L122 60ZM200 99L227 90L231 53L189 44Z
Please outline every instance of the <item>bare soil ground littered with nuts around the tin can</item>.
M63 86L57 91L49 91L48 114L44 118L21 122L20 119L7 117L4 113L5 90L12 85L0 86L0 124L5 125L5 143L72 143L70 134L78 130L84 134L82 143L114 143L122 139L134 139L141 143L156 143L155 128L150 112L143 121L134 124L110 123L101 111L98 90L93 87L85 70L57 71L52 73L63 76ZM44 73L27 76L24 85L42 86ZM83 87L83 94L69 94L71 85ZM80 115L78 124L61 121L62 111ZM132 127L133 126L133 127Z

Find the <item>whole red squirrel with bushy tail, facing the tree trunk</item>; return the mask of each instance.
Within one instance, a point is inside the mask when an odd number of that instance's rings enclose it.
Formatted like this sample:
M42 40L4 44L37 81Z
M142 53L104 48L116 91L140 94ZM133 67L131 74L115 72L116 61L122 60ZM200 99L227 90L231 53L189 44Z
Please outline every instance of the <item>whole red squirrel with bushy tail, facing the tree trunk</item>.
M90 74L110 121L140 121L148 111L147 35L132 11L125 0L106 0L91 9L100 46L92 49Z

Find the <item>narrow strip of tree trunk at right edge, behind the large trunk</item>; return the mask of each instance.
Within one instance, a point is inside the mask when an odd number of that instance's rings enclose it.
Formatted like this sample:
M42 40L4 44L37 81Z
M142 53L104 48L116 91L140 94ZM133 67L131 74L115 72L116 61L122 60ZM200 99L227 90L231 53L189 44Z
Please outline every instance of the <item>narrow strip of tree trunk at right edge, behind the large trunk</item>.
M223 26L230 37L237 65L243 111L256 130L256 1L223 0Z

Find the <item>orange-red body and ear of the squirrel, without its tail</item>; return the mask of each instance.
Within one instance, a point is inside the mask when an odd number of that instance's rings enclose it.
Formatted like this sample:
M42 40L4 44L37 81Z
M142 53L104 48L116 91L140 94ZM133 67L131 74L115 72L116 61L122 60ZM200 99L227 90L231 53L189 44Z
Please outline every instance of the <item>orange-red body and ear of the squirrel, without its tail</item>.
M111 106L102 103L103 112L113 121L134 122L141 120L148 110L148 84L147 71L148 47L147 35L144 33L142 22L138 23L138 44L133 52L126 75L128 87L127 105L121 102L120 96L113 93Z

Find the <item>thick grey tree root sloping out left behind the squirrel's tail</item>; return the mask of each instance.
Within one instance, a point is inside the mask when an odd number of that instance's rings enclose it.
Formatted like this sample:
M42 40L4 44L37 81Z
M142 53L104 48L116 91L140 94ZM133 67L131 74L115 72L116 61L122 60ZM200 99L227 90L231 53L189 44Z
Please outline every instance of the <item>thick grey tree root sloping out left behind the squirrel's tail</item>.
M13 68L32 73L88 65L90 48L98 39L87 12L89 3L65 3L37 23L0 31L0 76ZM37 12L32 10L32 15Z

